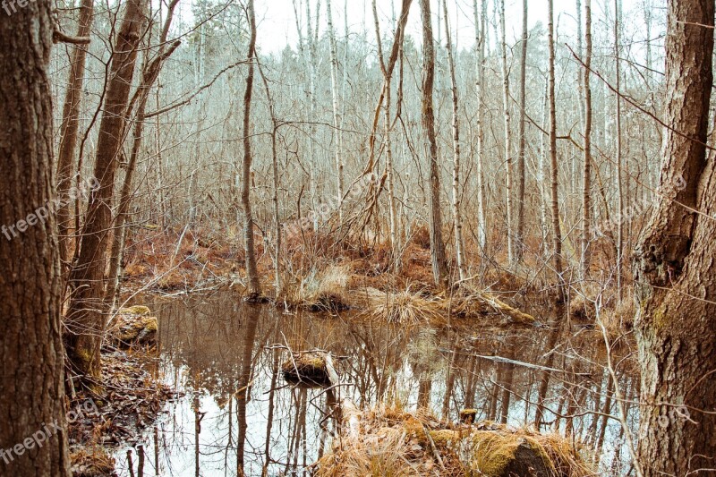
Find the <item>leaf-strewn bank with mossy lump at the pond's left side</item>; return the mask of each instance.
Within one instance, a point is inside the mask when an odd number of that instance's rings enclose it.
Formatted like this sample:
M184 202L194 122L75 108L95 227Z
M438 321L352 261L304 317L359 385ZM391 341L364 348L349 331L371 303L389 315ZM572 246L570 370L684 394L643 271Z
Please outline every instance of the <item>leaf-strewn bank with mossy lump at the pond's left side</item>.
M67 414L72 475L116 475L116 449L134 445L176 395L158 376L156 317L132 307L115 317L102 349L102 375L77 389Z

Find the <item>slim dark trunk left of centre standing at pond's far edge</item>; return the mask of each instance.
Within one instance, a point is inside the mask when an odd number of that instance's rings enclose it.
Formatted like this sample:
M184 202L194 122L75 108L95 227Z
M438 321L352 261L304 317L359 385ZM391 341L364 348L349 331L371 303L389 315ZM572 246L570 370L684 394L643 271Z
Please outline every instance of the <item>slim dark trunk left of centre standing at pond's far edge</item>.
M248 297L255 300L261 295L259 270L256 267L256 250L253 243L253 213L251 212L251 96L253 95L253 72L256 61L256 14L253 0L249 0L249 72L246 76L246 90L243 94L243 162L241 181L241 205L243 208L243 246L246 253L246 275L249 280Z

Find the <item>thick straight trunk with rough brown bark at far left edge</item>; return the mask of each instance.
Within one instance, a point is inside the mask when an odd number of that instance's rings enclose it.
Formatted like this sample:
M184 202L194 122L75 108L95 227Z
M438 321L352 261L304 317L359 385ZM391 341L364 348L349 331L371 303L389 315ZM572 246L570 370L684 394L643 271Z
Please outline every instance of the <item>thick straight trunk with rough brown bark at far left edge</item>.
M0 475L21 477L70 475L61 274L49 210L51 8L38 0L12 17L0 13Z

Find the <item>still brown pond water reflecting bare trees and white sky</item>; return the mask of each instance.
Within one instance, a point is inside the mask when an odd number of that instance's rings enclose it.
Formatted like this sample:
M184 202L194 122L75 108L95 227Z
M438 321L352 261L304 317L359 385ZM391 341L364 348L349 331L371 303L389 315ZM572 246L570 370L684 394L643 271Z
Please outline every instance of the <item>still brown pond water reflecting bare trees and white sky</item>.
M357 405L429 406L451 420L473 408L477 420L539 422L597 449L605 474L627 473L621 426L609 418L614 383L593 336L583 336L585 345L558 330L406 330L283 314L226 293L152 310L160 323L158 372L184 394L146 436L144 475L310 475L330 448L333 402L345 397ZM276 345L347 357L337 360L336 395L287 386L280 365L288 355ZM637 384L631 373L619 374L627 399ZM635 426L635 406L626 407ZM130 475L125 452L117 454L123 476Z

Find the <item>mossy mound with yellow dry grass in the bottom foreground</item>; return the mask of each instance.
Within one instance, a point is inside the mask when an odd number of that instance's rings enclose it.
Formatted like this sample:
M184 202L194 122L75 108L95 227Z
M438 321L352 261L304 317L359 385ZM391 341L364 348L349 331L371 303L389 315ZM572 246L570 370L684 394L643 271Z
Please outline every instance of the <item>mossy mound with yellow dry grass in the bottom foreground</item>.
M557 434L540 434L494 422L444 422L425 411L379 409L348 414L354 420L349 426L353 431L341 435L333 453L320 459L316 473L319 476L427 476L436 472L490 477L594 474L579 449ZM379 473L375 473L377 469Z

